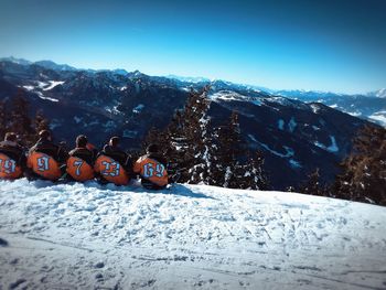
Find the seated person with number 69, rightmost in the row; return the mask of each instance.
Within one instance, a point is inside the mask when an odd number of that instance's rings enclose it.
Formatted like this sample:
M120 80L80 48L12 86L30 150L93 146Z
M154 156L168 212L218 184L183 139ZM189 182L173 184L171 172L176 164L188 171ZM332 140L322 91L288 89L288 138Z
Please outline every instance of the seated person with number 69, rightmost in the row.
M167 160L157 144L147 148L147 154L140 157L133 165L133 172L141 178L141 184L149 190L164 189L168 183Z

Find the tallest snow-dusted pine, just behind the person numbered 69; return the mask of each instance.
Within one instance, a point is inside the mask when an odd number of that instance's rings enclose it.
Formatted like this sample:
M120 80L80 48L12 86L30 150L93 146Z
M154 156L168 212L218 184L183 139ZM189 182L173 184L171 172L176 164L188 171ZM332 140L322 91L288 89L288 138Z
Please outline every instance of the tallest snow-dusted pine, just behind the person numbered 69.
M212 131L206 112L210 107L208 88L191 92L186 105L178 110L168 128L161 132L152 128L144 146L156 142L169 159L170 171L181 173L180 181L211 184Z

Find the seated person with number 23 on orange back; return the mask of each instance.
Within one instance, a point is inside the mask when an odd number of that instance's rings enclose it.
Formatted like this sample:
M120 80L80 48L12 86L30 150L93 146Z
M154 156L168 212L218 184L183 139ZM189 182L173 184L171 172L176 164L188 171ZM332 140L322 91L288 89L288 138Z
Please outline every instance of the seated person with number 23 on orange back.
M127 185L131 176L131 157L119 147L119 137L112 137L99 152L94 170L101 183Z

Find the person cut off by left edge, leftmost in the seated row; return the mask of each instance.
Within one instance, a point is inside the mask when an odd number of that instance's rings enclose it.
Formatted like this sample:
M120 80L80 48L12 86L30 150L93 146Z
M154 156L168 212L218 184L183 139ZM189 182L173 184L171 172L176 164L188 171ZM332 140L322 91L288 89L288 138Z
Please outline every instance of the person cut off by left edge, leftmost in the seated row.
M18 143L14 132L7 132L0 142L0 179L19 179L26 165L23 148Z

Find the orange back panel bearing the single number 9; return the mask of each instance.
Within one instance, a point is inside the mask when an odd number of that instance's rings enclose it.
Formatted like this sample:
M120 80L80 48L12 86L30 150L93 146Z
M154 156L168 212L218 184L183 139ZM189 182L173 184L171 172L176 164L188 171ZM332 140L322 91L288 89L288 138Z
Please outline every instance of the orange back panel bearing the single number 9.
M39 176L46 180L56 181L62 176L56 160L41 152L32 152L28 157L26 167Z

